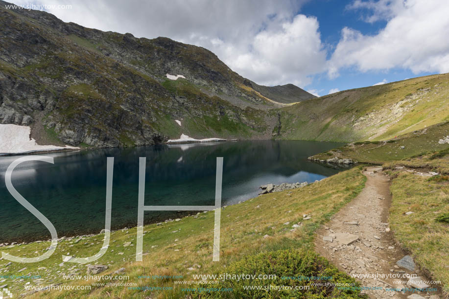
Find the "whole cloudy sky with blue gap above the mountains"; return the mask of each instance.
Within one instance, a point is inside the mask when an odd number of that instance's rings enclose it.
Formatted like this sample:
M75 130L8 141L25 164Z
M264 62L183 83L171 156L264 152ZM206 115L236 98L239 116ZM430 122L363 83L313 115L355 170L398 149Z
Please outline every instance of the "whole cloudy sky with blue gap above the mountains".
M15 0L64 22L203 46L315 95L449 72L448 0ZM58 5L71 5L63 9Z

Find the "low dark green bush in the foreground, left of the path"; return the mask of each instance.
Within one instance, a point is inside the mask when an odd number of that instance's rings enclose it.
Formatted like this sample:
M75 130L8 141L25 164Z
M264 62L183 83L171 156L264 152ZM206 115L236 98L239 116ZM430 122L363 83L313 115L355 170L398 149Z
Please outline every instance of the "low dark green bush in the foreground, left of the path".
M219 274L254 275L255 279L220 279L218 283L202 285L204 289L232 289L230 292L194 292L193 298L367 298L361 295L355 279L330 264L324 257L312 251L279 250L249 255L223 269ZM218 274L218 275L219 275ZM259 275L276 275L275 279L257 279ZM304 278L301 278L304 277ZM307 279L306 277L314 277ZM224 281L222 281L224 280ZM315 283L328 285L315 286ZM339 289L332 283L351 285ZM260 286L261 289L245 290L246 286ZM270 286L269 290L265 286ZM276 286L291 286L293 290L273 289ZM299 290L296 290L298 287ZM306 287L306 288L305 288ZM302 289L301 289L302 288ZM308 289L307 289L308 288ZM340 287L341 288L341 287Z

